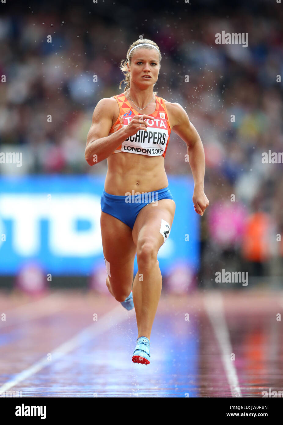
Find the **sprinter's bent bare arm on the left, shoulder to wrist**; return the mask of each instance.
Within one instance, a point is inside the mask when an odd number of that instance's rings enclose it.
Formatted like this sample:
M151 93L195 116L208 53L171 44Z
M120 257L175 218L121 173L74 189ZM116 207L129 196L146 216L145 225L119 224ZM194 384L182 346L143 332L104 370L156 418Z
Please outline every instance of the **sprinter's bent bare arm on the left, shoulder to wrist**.
M97 164L108 158L128 137L125 127L120 128L108 136L112 127L113 116L114 108L112 99L105 97L99 100L93 111L91 128L88 132L85 147L85 160L89 165Z

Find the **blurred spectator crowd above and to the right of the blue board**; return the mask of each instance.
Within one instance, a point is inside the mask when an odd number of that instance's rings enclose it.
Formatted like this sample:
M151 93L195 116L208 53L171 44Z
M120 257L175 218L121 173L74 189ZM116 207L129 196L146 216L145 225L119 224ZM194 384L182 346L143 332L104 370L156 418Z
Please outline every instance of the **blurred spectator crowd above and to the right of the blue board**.
M183 106L204 144L210 205L201 219L198 279L229 267L282 276L283 165L262 162L264 152L283 151L283 12L274 3L269 13L232 8L221 16L203 2L192 14L182 6L162 19L144 9L136 27L128 25L129 6L108 20L79 6L3 14L0 151L23 152L23 166L2 165L0 173L105 174L106 160L90 167L84 157L93 109L122 92L119 62L144 34L162 54L154 90ZM247 33L248 47L216 45L223 30ZM168 174L191 174L186 154L172 132Z

